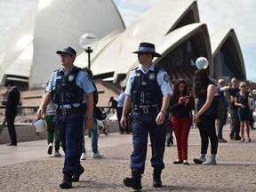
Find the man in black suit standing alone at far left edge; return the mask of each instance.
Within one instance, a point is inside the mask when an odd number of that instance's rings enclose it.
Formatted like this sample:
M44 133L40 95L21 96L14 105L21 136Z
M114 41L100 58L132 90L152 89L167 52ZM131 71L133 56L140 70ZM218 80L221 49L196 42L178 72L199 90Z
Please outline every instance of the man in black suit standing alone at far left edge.
M4 86L8 89L8 96L7 100L4 100L2 104L6 105L5 118L11 140L11 143L7 144L7 146L17 146L17 136L14 126L14 120L17 116L17 106L20 101L20 91L17 89L16 86L14 86L12 81L6 82Z

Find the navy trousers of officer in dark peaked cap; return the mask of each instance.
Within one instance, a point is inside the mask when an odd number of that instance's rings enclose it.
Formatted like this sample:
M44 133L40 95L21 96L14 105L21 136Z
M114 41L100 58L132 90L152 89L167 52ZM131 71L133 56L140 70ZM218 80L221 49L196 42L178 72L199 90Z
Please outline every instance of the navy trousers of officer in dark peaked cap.
M83 147L83 126L84 114L71 113L68 115L54 116L54 122L57 126L61 147L65 152L64 175L74 175L80 172L80 156Z

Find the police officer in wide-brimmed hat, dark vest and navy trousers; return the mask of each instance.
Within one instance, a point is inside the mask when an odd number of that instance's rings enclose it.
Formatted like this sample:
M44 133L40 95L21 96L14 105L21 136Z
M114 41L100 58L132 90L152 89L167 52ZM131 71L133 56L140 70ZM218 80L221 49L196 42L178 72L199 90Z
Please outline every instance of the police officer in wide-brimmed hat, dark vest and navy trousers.
M141 189L141 174L145 170L148 147L148 132L151 141L153 187L161 188L161 172L164 169L165 117L169 106L171 87L164 69L152 62L161 55L155 52L155 45L140 43L138 54L140 66L131 71L125 89L124 109L121 125L125 128L126 115L132 106L132 177L124 179L124 185Z

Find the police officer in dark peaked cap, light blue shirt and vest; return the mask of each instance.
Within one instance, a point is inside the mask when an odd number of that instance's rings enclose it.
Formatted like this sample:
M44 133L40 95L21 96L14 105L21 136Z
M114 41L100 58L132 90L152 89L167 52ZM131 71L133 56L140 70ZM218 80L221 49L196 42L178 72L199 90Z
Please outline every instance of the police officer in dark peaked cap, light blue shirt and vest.
M94 87L87 73L82 68L74 66L76 51L65 47L56 52L60 55L62 68L52 73L46 93L37 111L37 117L42 118L44 108L52 99L56 104L54 123L58 128L61 147L65 152L63 180L60 188L72 188L72 181L78 181L84 172L80 164L82 154L82 139L84 114L86 129L92 128L92 108ZM86 96L86 104L84 101Z

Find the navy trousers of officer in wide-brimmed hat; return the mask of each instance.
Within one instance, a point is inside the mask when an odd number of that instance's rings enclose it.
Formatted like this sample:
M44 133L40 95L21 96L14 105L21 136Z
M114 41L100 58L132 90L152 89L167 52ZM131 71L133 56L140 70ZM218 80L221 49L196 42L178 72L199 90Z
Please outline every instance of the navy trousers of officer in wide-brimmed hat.
M148 133L151 142L151 166L164 169L165 124L156 124L156 113L132 113L132 145L131 169L137 168L143 174L148 148Z

